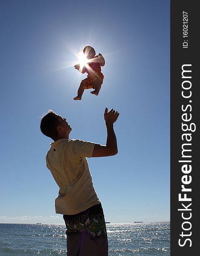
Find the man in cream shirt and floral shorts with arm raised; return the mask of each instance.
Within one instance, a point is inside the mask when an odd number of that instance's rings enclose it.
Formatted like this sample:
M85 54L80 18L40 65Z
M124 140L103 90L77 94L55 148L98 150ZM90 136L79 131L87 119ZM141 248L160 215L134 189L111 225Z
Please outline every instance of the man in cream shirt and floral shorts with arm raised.
M46 155L46 165L60 188L55 209L63 214L66 224L68 256L108 256L103 209L86 157L117 154L113 124L118 116L114 109L105 109L106 145L69 139L71 127L66 118L51 110L41 120L42 133L54 140Z

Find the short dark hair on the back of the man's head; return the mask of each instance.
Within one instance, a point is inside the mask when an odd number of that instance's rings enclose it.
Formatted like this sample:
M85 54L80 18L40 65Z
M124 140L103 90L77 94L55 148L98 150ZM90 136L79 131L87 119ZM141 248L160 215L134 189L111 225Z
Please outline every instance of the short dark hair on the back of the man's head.
M48 113L43 116L40 123L41 132L50 137L52 140L56 140L57 138L57 126L60 125L57 114L49 110Z

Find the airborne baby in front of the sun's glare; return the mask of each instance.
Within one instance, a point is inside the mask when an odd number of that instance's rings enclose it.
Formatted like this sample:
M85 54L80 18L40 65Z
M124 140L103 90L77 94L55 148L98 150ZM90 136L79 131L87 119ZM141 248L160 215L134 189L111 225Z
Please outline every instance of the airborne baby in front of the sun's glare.
M86 79L83 79L78 88L77 96L74 100L80 100L85 89L94 89L91 91L92 94L98 95L101 89L101 85L103 84L103 74L101 73L101 66L105 65L105 60L101 53L96 55L96 52L93 47L86 46L83 49L83 53L87 58L87 64L85 64L82 68L80 64L74 65L75 69L77 69L80 73L88 73Z

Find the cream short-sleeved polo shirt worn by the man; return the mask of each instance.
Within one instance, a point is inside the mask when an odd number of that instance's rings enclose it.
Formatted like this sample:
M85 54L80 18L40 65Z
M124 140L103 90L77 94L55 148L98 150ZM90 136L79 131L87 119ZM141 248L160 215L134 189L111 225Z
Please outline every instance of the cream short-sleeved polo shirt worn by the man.
M56 213L73 215L100 204L86 160L91 157L94 144L68 139L50 144L46 166L60 188L55 199Z

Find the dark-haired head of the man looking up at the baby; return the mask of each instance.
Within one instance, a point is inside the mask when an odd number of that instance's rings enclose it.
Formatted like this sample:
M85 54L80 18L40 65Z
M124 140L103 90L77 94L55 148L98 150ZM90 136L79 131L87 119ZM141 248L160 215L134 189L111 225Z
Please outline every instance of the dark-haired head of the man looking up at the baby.
M68 125L66 118L63 118L62 116L57 115L54 111L49 110L41 119L40 130L44 135L56 141L62 138L69 139L71 127Z

